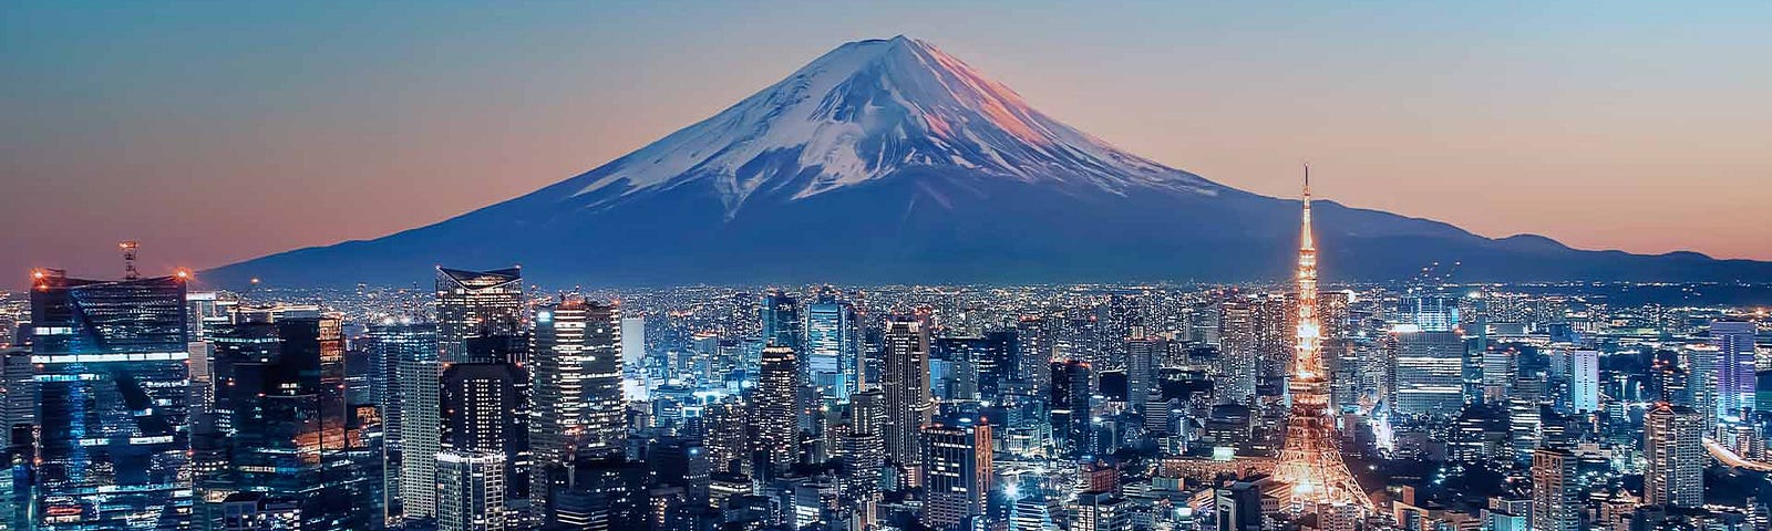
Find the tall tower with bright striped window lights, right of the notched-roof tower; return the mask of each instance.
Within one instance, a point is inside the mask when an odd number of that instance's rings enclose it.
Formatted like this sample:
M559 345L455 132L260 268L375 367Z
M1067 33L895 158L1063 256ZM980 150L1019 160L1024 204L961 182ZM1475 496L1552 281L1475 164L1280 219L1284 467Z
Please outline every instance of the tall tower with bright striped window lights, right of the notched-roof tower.
M578 457L618 455L627 437L620 312L569 297L535 310L535 414L530 425L532 504L546 499Z

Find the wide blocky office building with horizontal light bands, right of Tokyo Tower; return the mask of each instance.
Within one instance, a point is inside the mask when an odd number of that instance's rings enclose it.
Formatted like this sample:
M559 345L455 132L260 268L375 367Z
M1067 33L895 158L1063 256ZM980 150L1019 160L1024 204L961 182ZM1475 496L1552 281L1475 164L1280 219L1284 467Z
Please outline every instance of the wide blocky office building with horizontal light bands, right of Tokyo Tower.
M1464 407L1464 338L1455 331L1391 331L1396 382L1391 407L1405 416L1455 416Z

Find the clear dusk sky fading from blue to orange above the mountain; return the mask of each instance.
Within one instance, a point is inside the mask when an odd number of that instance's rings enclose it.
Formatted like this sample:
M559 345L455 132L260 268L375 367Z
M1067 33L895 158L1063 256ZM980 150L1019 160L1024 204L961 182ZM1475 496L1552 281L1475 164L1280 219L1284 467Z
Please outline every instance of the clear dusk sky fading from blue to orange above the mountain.
M0 278L372 239L911 35L1159 163L1772 260L1772 2L0 2ZM0 281L0 285L7 285Z

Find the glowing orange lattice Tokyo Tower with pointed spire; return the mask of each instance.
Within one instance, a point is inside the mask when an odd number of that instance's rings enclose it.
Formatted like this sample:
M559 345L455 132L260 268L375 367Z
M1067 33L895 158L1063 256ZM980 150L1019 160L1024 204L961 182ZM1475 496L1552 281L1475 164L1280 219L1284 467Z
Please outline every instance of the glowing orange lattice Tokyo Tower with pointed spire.
M1317 322L1317 241L1311 237L1311 168L1304 166L1304 214L1299 237L1299 335L1292 361L1292 418L1286 419L1286 446L1279 451L1274 476L1292 485L1295 510L1322 504L1354 504L1372 512L1372 497L1359 489L1341 462L1334 423L1329 418L1329 373L1322 361L1322 333Z

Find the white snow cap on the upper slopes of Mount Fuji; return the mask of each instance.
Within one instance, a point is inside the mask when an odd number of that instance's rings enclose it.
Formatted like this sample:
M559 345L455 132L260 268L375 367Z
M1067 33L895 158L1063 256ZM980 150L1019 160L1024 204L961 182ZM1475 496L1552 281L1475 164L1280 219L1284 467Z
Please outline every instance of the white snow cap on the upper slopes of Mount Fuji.
M799 200L914 166L1088 184L1115 195L1223 189L1065 126L959 58L902 35L843 44L567 188L576 188L583 207L602 207L707 182L730 218L760 191Z

